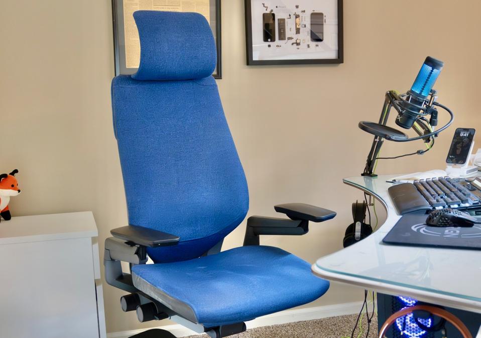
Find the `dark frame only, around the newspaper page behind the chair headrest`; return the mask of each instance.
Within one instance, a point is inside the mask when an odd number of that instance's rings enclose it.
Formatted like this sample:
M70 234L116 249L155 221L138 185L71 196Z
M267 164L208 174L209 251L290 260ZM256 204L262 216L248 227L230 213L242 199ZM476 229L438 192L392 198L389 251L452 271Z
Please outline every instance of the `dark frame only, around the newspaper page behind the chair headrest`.
M115 76L131 75L137 72L137 68L127 68L125 58L125 35L124 35L124 0L112 0L112 25L113 25L113 52ZM222 79L222 39L221 39L221 11L220 0L210 0L210 28L214 35L217 47L217 65L212 76ZM213 14L213 15L212 15Z

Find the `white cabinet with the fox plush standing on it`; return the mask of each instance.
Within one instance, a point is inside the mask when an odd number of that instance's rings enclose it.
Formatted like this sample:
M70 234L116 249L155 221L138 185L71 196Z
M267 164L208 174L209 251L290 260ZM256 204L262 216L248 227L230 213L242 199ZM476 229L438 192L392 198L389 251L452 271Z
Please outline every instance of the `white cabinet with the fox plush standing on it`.
M0 337L100 337L105 319L90 211L0 222Z

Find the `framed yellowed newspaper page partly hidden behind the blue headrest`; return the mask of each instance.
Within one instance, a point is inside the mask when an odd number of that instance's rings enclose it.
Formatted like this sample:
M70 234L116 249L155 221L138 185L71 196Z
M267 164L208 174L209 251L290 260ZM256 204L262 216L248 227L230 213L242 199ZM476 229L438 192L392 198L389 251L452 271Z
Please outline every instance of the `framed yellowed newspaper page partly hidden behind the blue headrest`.
M134 74L140 62L140 41L135 11L196 12L210 23L217 46L217 66L212 76L222 78L220 45L220 0L112 0L115 75Z

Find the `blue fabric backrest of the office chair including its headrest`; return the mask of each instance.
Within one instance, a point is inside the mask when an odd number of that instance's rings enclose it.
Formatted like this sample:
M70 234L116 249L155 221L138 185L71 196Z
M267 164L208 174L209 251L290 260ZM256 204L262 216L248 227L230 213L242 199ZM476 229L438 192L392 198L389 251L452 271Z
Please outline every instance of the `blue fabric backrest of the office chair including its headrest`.
M245 218L249 193L211 76L216 48L195 13L138 11L139 70L112 81L129 224L180 236L155 262L199 257Z

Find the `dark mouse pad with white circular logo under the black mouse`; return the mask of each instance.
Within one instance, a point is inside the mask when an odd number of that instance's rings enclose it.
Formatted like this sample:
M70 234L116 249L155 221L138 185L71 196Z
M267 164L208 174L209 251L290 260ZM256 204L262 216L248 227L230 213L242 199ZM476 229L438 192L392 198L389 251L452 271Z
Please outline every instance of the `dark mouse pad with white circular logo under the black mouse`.
M384 237L386 244L481 250L481 224L471 228L433 227L426 214L407 214Z

